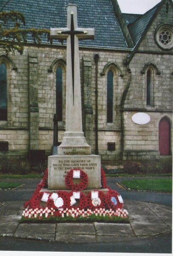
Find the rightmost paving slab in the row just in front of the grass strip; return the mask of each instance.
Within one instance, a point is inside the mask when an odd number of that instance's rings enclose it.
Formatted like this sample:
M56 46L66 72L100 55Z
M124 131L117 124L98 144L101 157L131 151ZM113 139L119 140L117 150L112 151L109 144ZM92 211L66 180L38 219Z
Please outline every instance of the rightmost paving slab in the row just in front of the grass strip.
M136 236L156 236L158 234L170 232L171 229L166 224L137 224L131 223Z

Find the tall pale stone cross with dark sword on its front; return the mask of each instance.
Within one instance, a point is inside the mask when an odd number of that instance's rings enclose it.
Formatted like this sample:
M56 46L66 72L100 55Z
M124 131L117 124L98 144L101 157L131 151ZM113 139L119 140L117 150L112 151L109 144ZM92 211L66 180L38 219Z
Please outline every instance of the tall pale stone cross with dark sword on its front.
M94 29L78 28L77 5L69 4L67 6L67 27L60 29L51 28L51 38L67 40L65 137L58 147L58 154L65 154L61 150L62 146L63 148L68 146L90 147L86 143L82 132L78 40L94 39ZM91 154L91 147L87 152Z

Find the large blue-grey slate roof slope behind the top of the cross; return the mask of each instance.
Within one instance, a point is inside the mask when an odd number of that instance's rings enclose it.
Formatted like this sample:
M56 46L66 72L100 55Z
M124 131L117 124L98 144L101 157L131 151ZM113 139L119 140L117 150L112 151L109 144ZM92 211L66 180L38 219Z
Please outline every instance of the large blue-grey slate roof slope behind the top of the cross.
M0 8L6 2L0 1ZM10 0L3 11L22 12L26 28L50 29L66 27L69 3L77 4L78 26L95 29L95 39L79 41L79 45L127 48L110 0Z

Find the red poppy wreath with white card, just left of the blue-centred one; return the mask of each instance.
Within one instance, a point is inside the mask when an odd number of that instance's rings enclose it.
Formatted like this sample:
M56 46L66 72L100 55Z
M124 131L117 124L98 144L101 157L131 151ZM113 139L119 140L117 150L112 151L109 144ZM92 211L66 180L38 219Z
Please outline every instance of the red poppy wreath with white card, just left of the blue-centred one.
M98 191L98 190L94 190L94 191ZM105 195L102 191L98 191L99 192L99 199L101 201L101 204L94 206L94 204L92 204L93 199L91 199L91 191L88 193L87 195L87 209L91 209L91 210L95 210L95 209L99 209L99 208L106 208L107 204L106 204L106 198Z

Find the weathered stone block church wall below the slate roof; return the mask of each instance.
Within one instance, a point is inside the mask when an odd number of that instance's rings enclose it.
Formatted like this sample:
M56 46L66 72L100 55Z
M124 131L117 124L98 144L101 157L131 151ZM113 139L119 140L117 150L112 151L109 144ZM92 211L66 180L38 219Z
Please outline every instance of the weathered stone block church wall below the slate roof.
M129 67L125 67L124 60L129 54L128 50L120 52L80 49L82 121L86 140L92 146L92 153L95 153L96 144L95 54L99 55L98 151L102 160L117 160L122 156L123 150L124 158L128 159L132 156L133 159L137 157L139 160L144 157L158 157L158 120L164 113L171 119L172 78L169 63L172 56L138 52ZM59 142L65 132L65 47L38 49L29 46L25 48L23 55L16 53L9 57L14 62L14 68L8 59L0 57L1 62L5 61L8 70L8 121L0 121L0 141L9 142L9 151L0 151L0 157L24 157L28 155L29 149L45 150L45 154L49 155L53 145L56 68L59 65L63 73L63 115L62 122L59 122ZM155 63L161 72L160 75L154 74L152 107L146 107L146 74L141 73L149 61ZM153 67L155 73L156 67ZM113 71L114 86L113 123L107 123L106 111L107 73L110 69ZM129 83L129 72L132 79L124 104L126 110L122 112L122 96ZM137 109L150 111L150 123L136 125L132 122L131 117ZM115 150L109 151L108 143L115 143Z

